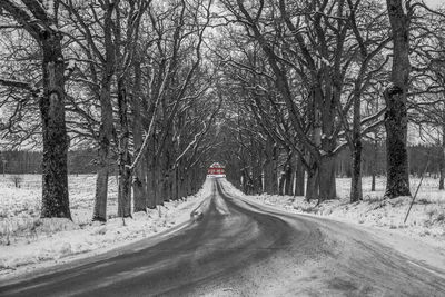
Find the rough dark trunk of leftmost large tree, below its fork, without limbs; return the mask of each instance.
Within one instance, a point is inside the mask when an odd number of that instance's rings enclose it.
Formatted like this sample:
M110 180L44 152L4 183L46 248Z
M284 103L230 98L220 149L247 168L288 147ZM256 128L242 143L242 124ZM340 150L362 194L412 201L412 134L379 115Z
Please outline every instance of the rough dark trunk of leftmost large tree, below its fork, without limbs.
M42 218L69 218L68 161L69 139L65 121L65 65L61 34L47 32L42 40L43 96L42 120Z

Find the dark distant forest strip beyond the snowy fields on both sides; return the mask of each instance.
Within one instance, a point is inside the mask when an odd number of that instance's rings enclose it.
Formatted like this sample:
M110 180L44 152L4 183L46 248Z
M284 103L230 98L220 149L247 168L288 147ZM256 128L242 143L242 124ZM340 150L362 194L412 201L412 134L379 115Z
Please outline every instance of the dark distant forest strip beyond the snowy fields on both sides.
M408 147L409 156L409 172L414 176L422 175L426 164L428 176L437 176L439 174L439 150L438 146L411 146ZM71 175L96 174L96 156L93 149L72 150L68 152L68 172ZM7 150L0 152L1 172L4 174L41 174L41 157L40 151L27 150ZM370 176L375 170L377 176L386 172L386 149L385 143L364 143L363 154L363 175ZM428 161L429 160L429 161ZM350 152L345 148L337 156L337 177L350 177ZM117 169L117 166L116 166Z

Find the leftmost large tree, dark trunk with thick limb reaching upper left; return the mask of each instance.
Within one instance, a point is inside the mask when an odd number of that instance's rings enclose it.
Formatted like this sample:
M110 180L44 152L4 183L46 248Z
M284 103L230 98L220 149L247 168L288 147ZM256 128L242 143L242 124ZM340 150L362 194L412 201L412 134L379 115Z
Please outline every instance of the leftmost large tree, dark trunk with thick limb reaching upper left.
M69 139L65 122L66 66L62 34L58 29L59 1L42 4L38 0L4 0L0 2L0 12L7 19L22 26L41 50L42 93L39 97L43 140L41 217L71 218L67 177ZM37 90L34 93L39 96Z

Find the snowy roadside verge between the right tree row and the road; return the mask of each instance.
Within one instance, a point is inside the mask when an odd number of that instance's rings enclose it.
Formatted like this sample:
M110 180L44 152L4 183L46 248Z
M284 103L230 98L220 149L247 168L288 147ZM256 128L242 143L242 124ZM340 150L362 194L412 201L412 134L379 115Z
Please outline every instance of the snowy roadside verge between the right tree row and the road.
M441 214L445 214L445 197L441 194L425 194L423 198L421 196L419 202L413 206L407 222L403 224L411 202L408 197L392 200L369 199L358 204L348 204L346 199L339 199L316 206L316 201L308 204L303 197L296 197L294 200L291 196L249 196L227 180L224 180L222 185L233 196L278 211L347 222L368 232L377 241L445 271L445 220L441 219ZM342 186L346 185L340 184Z

